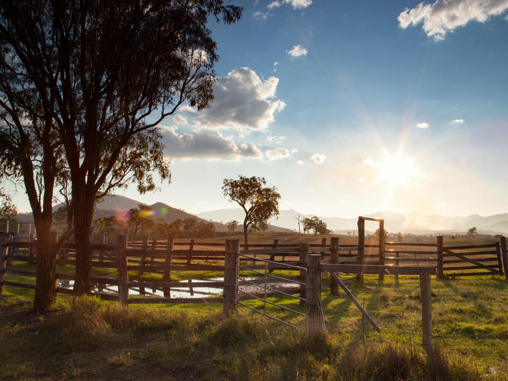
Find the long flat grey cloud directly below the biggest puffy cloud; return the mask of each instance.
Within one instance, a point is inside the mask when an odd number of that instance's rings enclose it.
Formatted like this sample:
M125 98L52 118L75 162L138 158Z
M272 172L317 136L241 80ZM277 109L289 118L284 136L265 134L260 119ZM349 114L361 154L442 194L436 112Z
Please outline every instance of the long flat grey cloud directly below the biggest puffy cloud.
M233 137L214 129L198 128L190 133L180 133L176 125L161 125L160 128L167 156L223 160L262 156L256 144L243 143L238 147Z

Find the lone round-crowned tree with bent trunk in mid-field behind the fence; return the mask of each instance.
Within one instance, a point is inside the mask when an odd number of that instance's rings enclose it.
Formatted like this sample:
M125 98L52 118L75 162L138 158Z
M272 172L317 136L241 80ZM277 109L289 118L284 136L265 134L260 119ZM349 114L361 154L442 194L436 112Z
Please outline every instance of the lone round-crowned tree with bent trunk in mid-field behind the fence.
M276 187L267 187L264 177L238 176L238 180L224 179L223 194L230 202L236 202L245 212L243 239L248 248L249 226L261 226L279 214L280 194Z

